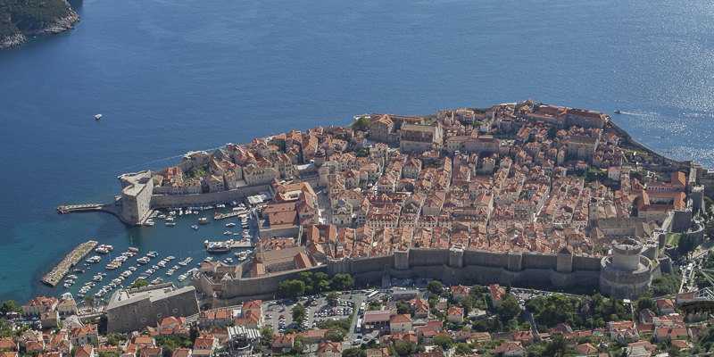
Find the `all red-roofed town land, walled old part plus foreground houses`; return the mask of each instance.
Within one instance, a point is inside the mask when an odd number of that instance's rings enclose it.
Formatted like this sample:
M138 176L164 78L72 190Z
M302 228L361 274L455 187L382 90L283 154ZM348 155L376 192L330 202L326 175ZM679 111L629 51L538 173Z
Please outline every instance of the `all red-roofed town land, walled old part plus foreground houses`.
M251 220L254 253L237 264L207 257L189 270L189 286L137 278L111 297L111 288L87 295L80 312L108 337L145 332L98 351L161 356L177 346L166 338L191 335L193 352L174 356L208 356L219 345L246 355L435 357L649 355L714 344L714 330L697 323L714 310L714 171L652 152L602 112L529 99L375 113L191 152L119 179L113 203L57 212L111 212L152 229L177 211L231 203L238 207L212 220ZM147 257L156 254L135 262ZM71 295L43 296L22 313L46 328L77 305ZM101 343L95 328L71 329L72 344ZM430 345L449 353L424 353ZM92 355L91 345L81 348Z

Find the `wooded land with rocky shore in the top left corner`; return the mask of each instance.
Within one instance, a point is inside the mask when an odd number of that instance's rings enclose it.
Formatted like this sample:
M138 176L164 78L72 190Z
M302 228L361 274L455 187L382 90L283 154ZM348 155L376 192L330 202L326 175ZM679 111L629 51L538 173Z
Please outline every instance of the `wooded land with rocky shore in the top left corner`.
M0 49L20 46L28 36L69 31L77 22L67 0L0 0Z

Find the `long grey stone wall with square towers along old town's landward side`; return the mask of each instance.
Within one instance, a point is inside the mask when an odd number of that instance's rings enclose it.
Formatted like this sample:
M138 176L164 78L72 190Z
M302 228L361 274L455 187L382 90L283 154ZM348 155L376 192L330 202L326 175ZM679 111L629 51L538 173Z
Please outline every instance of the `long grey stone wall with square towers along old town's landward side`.
M643 252L651 253L651 252ZM639 256L639 252L637 253ZM192 280L199 295L203 295L202 308L235 305L253 299L274 299L281 281L296 279L301 272L350 274L357 286L381 284L385 274L392 278L427 277L442 279L447 284L508 284L539 282L551 286L593 286L601 292L603 261L609 257L574 254L563 249L558 254L509 252L494 253L472 249L411 248L393 255L370 256L360 259L328 260L323 265L270 274L260 278L231 278L214 281L198 273ZM642 259L650 259L642 255ZM645 280L652 281L661 274L660 264L652 260ZM244 276L249 263L240 264L237 276ZM638 271L638 274L641 274Z

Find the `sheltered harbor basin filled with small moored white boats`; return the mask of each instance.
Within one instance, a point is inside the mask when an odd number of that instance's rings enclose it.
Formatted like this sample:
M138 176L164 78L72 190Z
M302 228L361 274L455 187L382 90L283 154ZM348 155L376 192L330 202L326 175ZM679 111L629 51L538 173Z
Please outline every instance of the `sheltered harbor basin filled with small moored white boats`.
M62 204L57 212L98 212L107 206ZM249 258L255 246L253 239L257 237L251 216L250 206L239 201L157 208L144 224L129 226L128 241L103 237L101 245L95 243L88 247L84 262L76 263L81 266L69 267L63 274L42 282L78 298L94 296L96 303L117 288L130 286L137 278L150 284L172 282L185 286L191 283L193 271L209 260L235 264ZM165 237L171 237L177 244L163 245ZM209 249L199 243L206 240L216 245ZM159 254L166 257L162 259ZM176 261L170 262L171 258ZM48 291L47 294L54 293Z

